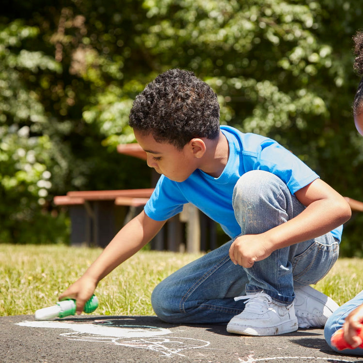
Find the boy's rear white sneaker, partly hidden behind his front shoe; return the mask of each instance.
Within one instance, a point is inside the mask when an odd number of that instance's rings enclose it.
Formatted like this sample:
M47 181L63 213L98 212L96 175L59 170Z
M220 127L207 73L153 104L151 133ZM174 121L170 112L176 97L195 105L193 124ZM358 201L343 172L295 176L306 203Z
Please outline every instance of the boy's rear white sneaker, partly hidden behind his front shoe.
M333 299L310 286L295 288L294 305L299 328L324 328L339 307Z

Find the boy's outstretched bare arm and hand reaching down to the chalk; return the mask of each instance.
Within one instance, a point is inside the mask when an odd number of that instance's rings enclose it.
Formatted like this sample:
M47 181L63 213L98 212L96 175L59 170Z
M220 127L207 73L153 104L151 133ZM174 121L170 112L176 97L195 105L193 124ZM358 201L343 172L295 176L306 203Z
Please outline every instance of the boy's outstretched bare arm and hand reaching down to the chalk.
M108 273L151 241L165 222L155 221L142 211L122 227L87 271L59 296L59 300L76 299L76 313L80 314L97 284Z

